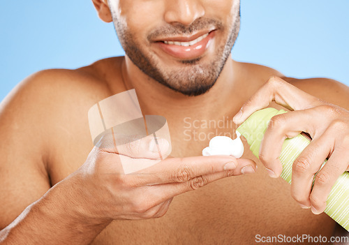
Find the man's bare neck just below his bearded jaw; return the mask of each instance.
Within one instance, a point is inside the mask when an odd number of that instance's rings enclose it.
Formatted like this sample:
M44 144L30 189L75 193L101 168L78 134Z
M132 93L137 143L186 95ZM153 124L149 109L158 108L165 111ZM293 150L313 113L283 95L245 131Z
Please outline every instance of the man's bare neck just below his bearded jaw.
M126 89L135 89L143 114L159 114L164 117L195 114L197 118L212 118L221 116L226 111L223 104L232 101L232 91L237 84L234 68L235 61L229 57L214 86L200 96L186 96L165 87L144 74L127 56L121 72Z

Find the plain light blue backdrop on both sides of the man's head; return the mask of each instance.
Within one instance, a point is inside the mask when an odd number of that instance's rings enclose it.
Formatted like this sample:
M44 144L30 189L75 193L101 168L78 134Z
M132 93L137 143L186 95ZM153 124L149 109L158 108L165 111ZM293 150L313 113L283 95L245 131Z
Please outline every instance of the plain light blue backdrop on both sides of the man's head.
M349 1L241 1L233 59L349 85ZM38 70L124 54L114 27L98 19L91 0L1 1L0 24L0 101Z

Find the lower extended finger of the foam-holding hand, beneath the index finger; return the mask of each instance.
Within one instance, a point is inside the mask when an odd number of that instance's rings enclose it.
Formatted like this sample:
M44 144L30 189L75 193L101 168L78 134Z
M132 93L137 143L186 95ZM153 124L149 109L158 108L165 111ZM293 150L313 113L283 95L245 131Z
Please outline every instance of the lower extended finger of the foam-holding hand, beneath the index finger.
M254 161L246 158L239 158L237 168L234 170L225 170L223 172L202 175L181 183L158 184L151 186L154 193L153 200L157 200L156 204L161 203L181 193L193 191L202 186L206 186L207 184L210 184L218 179L223 179L230 176L246 175L248 173L255 172L256 169L257 165L255 165Z

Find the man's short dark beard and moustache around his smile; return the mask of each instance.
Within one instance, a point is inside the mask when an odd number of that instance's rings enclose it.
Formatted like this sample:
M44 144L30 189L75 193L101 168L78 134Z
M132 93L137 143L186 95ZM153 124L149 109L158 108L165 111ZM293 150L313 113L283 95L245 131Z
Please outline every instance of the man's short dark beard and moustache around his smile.
M113 13L113 17L114 16ZM114 26L127 56L135 66L138 66L138 68L142 70L144 74L165 85L165 87L181 94L187 96L199 96L209 91L221 74L239 34L239 16L240 13L238 11L238 17L230 27L226 43L218 47L216 57L214 57L209 64L200 64L200 58L185 60L181 61L181 63L186 64L186 67L177 70L170 70L170 72L159 68L153 57L146 57L144 55L144 52L139 48L140 45L135 43L133 34L131 34L130 31L127 31L127 27L119 22L117 18L114 18ZM195 20L195 22L193 22L189 27L184 27L179 24L176 27L171 26L153 31L149 34L148 40L151 40L151 38L158 36L159 34L192 34L196 30L201 30L211 25L214 25L215 27L218 27L218 30L223 31L223 25L221 22L200 18Z

